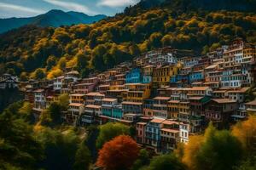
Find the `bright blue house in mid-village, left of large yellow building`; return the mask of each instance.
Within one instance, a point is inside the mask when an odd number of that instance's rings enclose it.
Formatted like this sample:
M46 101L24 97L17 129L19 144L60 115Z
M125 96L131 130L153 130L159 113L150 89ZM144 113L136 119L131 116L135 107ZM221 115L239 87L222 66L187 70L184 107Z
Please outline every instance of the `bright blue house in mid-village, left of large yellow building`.
M141 83L143 82L143 73L140 68L134 68L125 76L126 83Z

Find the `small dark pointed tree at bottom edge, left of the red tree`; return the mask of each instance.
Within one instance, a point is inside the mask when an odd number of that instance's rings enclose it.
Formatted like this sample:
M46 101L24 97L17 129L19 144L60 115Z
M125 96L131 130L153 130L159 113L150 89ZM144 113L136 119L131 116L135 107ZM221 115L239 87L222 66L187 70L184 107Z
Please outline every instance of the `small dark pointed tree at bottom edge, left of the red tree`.
M75 170L87 170L90 167L90 161L90 150L82 142L79 144L79 149L76 152L73 168Z

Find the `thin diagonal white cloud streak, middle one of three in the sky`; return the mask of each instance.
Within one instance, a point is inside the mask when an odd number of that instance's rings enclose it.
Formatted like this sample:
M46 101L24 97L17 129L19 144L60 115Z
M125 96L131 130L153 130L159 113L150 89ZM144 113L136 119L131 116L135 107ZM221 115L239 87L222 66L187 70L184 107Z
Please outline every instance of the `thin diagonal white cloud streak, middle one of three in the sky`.
M66 8L67 10L79 11L83 12L84 14L97 14L95 11L90 10L90 8L81 5L79 3L70 3L70 2L63 2L60 0L43 0L46 3L54 4L61 8Z

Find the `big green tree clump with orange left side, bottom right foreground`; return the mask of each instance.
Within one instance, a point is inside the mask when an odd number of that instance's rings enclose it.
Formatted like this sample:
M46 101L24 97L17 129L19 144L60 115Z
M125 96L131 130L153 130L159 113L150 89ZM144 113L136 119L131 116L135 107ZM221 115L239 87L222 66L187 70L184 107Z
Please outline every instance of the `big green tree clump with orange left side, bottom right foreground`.
M241 157L239 140L210 124L204 136L192 137L184 146L183 162L189 169L234 169Z

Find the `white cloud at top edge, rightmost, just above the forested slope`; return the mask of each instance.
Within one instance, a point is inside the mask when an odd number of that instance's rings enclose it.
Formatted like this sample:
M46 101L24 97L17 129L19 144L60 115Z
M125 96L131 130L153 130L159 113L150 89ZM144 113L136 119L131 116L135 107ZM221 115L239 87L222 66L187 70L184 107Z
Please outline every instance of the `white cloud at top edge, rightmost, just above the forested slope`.
M98 6L107 6L107 7L125 7L138 3L139 0L101 0L97 3Z

